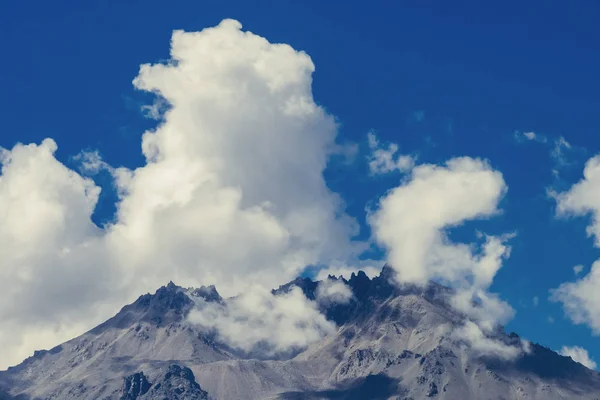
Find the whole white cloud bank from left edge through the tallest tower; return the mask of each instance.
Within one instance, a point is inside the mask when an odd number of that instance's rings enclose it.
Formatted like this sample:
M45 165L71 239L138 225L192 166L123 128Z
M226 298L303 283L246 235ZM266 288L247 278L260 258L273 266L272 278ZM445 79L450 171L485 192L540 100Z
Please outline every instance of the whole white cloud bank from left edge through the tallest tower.
M82 159L115 177L117 214L104 228L91 221L99 188L54 158L51 139L3 150L0 368L169 279L230 295L351 261L358 228L323 179L339 146L334 118L313 100L313 71L305 53L237 21L175 31L169 62L142 65L134 80L158 105L145 165Z

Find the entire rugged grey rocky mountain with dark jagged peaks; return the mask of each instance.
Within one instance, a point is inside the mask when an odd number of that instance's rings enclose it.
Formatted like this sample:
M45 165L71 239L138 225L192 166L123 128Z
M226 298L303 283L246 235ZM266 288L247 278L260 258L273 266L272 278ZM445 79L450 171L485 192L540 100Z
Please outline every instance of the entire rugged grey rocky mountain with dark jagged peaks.
M321 304L337 330L287 357L229 348L186 320L199 300L227 304L214 287L169 283L105 323L0 372L0 399L600 399L600 374L538 344L514 361L478 355L449 335L464 317L435 283L399 288L384 267L350 279L347 303ZM317 298L321 283L295 287ZM499 331L506 344L516 334ZM4 397L3 397L4 396Z

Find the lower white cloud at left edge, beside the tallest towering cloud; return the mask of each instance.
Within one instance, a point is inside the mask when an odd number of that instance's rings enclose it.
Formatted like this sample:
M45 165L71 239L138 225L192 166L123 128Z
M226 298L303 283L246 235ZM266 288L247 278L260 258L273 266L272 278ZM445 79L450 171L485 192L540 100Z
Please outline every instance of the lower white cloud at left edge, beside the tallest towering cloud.
M100 188L58 162L56 149L52 139L0 148L0 368L100 322L111 310L107 288L120 295L91 221Z

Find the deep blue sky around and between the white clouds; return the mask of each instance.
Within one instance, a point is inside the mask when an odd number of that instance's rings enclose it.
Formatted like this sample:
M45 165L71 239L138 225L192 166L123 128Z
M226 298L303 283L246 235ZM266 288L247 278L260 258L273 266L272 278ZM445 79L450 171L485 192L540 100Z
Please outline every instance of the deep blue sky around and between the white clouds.
M150 97L131 84L139 65L168 58L174 29L235 18L311 56L315 101L338 119L339 141L360 146L356 160L334 160L325 176L364 237L365 206L399 180L369 175L367 132L420 162L488 159L509 188L503 213L451 236L516 231L492 286L517 311L507 329L554 349L580 345L600 359L590 329L548 301L549 289L575 279L574 265L587 271L598 250L588 220L555 218L546 194L568 189L600 151L599 12L592 1L8 0L0 6L0 146L52 137L56 157L72 168L82 149L97 149L111 165L142 165L141 134L156 122L140 111ZM515 131L547 142L515 140ZM571 144L563 163L551 155L560 137ZM113 218L116 194L108 174L95 180L103 192L94 219L102 224Z

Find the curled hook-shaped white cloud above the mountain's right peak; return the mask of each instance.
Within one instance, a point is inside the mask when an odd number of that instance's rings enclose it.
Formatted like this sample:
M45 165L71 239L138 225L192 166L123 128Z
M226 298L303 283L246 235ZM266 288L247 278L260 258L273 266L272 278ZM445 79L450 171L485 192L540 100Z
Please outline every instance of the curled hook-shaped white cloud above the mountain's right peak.
M505 192L502 175L485 161L464 157L445 166L423 164L380 200L369 223L400 280L454 283L471 277L485 286L506 253L503 238L485 238L482 251L474 254L472 246L452 243L446 229L497 214Z

